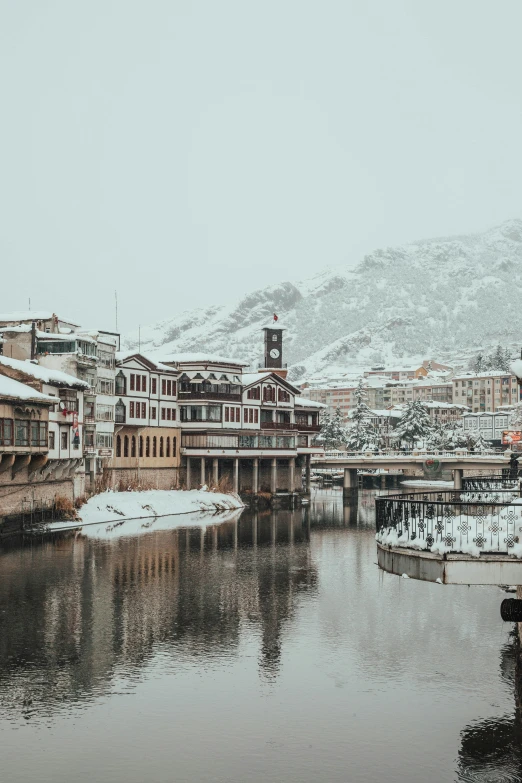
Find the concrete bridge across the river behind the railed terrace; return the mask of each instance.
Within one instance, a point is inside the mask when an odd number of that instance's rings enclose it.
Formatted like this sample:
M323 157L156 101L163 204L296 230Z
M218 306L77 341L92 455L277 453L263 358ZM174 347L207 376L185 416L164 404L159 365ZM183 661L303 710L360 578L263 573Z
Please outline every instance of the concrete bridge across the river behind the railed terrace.
M454 451L389 451L374 454L373 452L326 453L324 456L312 457L312 468L333 468L344 470L344 494L350 495L357 490L357 471L360 470L407 470L408 468L425 467L428 460L436 460L441 470L453 471L455 489L462 488L464 471L477 470L488 473L498 472L510 465L510 451L489 451L476 454L466 449Z

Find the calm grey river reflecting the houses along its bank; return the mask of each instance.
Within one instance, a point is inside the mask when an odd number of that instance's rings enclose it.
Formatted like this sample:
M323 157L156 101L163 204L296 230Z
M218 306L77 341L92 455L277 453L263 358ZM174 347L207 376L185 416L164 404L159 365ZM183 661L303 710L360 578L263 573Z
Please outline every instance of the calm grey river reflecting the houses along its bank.
M374 497L4 541L1 780L522 780L505 594L380 572Z

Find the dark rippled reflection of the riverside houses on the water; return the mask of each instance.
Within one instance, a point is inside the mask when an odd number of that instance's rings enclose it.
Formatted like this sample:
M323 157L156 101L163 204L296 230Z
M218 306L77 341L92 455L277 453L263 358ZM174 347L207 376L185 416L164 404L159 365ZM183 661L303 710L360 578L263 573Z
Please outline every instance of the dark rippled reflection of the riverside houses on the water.
M68 535L0 555L0 709L47 713L110 691L161 647L184 665L259 640L277 672L285 624L317 574L308 510L121 538Z

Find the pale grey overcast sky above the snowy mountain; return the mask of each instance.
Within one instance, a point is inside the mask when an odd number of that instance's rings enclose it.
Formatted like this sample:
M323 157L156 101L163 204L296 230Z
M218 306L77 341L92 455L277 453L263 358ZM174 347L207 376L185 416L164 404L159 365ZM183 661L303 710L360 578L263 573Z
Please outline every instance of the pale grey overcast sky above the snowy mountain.
M2 0L0 310L121 331L522 217L520 0Z

